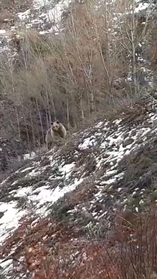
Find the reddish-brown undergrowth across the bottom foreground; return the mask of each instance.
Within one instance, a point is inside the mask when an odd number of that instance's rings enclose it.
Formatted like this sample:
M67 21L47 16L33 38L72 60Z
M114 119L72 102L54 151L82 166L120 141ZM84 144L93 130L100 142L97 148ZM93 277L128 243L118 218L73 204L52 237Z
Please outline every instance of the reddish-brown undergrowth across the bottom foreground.
M156 278L156 216L155 204L144 212L120 211L101 241L81 237L81 228L72 222L21 220L1 254L20 243L16 253L24 253L26 268L35 279Z

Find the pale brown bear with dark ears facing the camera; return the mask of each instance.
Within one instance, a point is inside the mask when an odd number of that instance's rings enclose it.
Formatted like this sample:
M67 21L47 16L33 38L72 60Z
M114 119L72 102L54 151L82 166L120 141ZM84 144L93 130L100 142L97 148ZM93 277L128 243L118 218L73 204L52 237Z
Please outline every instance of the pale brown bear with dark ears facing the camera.
M48 129L45 137L46 147L48 148L49 143L51 143L52 140L56 140L58 136L65 139L66 135L67 131L63 124L61 124L58 120L51 122L51 128Z

